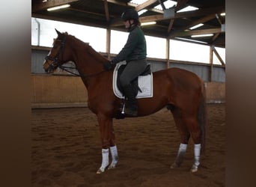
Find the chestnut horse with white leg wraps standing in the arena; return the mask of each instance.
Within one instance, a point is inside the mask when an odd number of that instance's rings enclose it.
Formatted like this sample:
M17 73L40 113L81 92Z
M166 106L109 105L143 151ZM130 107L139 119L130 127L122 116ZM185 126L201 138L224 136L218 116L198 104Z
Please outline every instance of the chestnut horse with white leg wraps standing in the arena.
M57 30L56 30L57 31ZM67 61L73 61L88 91L88 108L97 115L102 143L102 164L97 174L118 163L113 118L120 112L121 99L112 90L113 70L103 64L109 60L76 37L57 31L53 47L43 62L43 69L53 73ZM194 162L191 171L198 171L200 154L204 153L206 103L204 82L187 70L170 68L153 73L153 97L138 99L138 117L153 114L167 107L180 132L180 147L171 168L183 162L190 135L194 141ZM129 117L129 116L127 116ZM109 150L112 162L109 164Z

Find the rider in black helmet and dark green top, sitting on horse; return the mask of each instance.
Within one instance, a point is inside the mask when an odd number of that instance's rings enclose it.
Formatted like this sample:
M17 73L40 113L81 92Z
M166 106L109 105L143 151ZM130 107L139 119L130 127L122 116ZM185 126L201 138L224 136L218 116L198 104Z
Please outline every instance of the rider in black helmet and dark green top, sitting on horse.
M130 83L147 67L147 46L144 33L140 28L141 23L138 20L137 11L128 9L122 13L121 18L124 20L125 28L129 31L127 43L121 49L121 52L109 64L106 64L105 69L111 70L118 62L127 61L127 66L120 76L124 95L128 99L124 112L125 114L136 116L138 114L138 105L135 99L135 90Z

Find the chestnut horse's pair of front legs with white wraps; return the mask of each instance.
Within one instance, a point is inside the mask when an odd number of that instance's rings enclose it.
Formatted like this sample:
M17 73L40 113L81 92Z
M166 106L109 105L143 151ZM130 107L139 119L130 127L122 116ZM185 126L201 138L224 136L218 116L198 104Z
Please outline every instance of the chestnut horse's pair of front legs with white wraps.
M113 119L106 115L98 115L100 125L100 138L102 142L102 163L97 174L103 173L109 166L109 169L115 168L118 163L118 149L115 145L115 132L113 128ZM112 155L112 163L109 165L109 150Z

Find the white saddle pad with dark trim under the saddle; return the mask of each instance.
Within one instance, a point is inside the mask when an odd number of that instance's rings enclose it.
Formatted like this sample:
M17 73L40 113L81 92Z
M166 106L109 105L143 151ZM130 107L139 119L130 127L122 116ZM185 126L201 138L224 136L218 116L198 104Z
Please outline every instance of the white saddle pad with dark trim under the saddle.
M115 96L117 96L120 99L124 99L124 95L118 89L117 79L118 79L118 69L123 64L126 64L126 63L121 62L115 66L115 70L113 73L113 84L112 84ZM150 73L150 75L147 75L147 76L138 76L138 87L141 89L142 92L138 91L138 94L136 96L137 99L153 97L153 74Z

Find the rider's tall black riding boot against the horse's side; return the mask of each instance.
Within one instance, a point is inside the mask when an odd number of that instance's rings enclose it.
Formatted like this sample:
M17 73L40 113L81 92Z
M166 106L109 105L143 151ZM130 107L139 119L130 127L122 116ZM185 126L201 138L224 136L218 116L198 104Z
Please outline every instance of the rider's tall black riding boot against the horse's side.
M132 85L124 86L124 95L127 96L127 103L124 108L124 113L132 116L137 116L138 114L138 104L137 99L135 98L135 93L132 88Z

